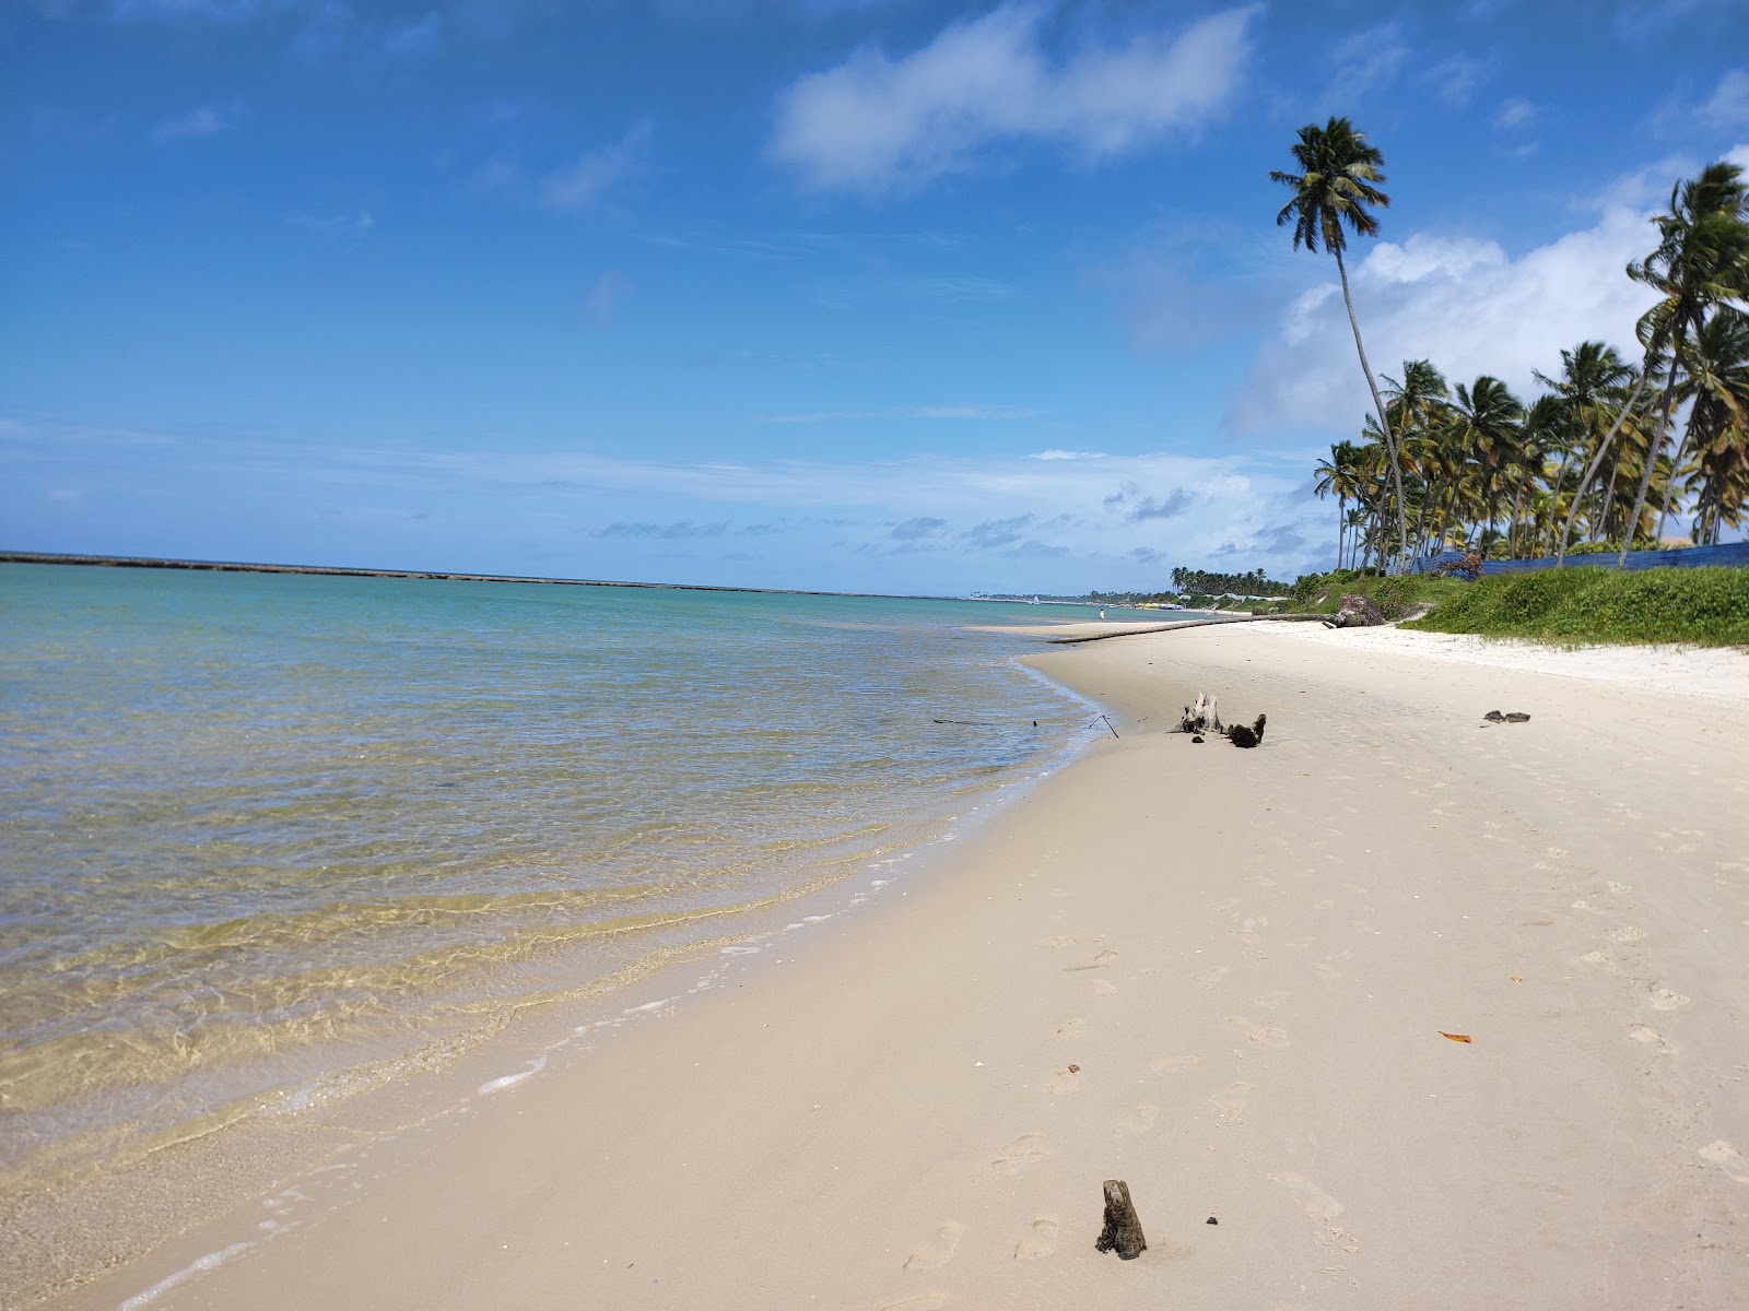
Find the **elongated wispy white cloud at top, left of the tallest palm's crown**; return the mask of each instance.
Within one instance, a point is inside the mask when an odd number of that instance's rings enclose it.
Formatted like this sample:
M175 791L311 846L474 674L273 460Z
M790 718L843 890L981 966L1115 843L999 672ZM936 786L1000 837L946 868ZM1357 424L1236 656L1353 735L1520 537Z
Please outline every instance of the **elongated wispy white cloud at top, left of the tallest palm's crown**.
M1188 133L1233 96L1258 5L1063 56L1048 9L1009 0L897 59L866 45L780 98L771 154L820 189L880 194L976 168L997 142L1098 161Z

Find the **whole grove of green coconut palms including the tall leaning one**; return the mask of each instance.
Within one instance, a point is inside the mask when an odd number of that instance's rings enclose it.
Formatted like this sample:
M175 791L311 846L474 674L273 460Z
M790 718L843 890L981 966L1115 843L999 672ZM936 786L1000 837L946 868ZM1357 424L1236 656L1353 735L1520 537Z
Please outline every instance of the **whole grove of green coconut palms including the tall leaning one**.
M1336 259L1373 395L1359 440L1329 447L1317 495L1334 496L1338 566L1403 572L1439 552L1488 559L1656 547L1670 516L1697 545L1744 523L1749 500L1749 185L1716 163L1670 191L1656 246L1627 276L1658 297L1641 355L1579 341L1539 395L1499 378L1450 383L1432 360L1375 376L1348 292L1348 234L1376 236L1383 157L1347 119L1307 124L1277 224Z

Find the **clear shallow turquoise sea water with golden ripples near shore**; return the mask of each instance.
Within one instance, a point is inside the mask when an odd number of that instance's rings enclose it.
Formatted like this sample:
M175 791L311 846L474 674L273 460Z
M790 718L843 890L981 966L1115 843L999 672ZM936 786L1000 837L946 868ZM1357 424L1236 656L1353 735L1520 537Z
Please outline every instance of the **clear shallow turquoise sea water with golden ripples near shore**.
M1051 617L1091 612L0 565L0 1171L892 858L1084 736L967 628Z

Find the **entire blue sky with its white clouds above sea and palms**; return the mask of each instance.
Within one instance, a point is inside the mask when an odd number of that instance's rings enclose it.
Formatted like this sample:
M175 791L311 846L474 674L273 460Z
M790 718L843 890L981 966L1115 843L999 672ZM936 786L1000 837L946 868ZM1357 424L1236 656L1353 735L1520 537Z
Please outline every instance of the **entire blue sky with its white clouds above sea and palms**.
M1632 351L1742 0L7 0L0 547L885 593L1327 566L1368 350Z

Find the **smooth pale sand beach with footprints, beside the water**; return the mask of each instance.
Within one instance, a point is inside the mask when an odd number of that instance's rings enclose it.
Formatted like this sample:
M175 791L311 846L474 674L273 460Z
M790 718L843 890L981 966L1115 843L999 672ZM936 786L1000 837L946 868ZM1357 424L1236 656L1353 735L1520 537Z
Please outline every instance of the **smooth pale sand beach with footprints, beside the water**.
M951 858L58 1306L1742 1308L1749 657L1646 659L1039 657L1123 738Z

